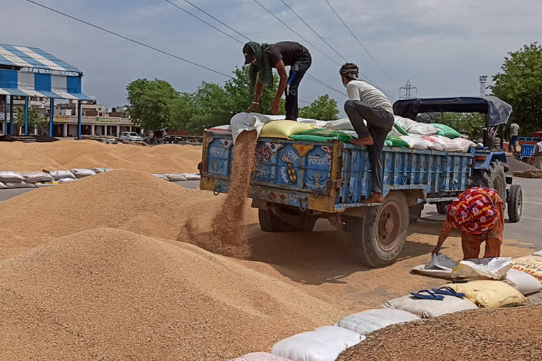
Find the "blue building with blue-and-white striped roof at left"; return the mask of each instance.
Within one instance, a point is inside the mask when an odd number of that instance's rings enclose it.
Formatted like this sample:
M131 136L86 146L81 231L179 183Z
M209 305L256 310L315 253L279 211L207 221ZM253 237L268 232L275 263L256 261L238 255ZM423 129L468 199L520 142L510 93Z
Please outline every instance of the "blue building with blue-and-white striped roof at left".
M16 99L24 100L24 133L29 135L30 99L46 98L50 99L49 136L52 137L54 99L64 99L78 104L77 137L80 139L83 102L95 102L81 91L82 78L83 72L42 49L0 44L0 97L4 97L4 109L0 112L4 114L4 133L13 135Z

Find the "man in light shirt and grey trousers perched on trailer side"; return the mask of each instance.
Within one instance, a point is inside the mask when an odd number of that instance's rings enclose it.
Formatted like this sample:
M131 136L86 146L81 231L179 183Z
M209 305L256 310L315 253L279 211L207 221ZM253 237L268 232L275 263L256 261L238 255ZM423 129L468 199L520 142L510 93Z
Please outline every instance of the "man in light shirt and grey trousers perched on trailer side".
M344 64L339 73L349 97L344 103L344 111L358 135L357 139L350 142L359 147L368 147L369 161L373 169L373 195L363 203L382 203L382 150L387 133L392 130L395 120L392 104L380 90L358 79L359 68L356 64ZM367 122L367 126L363 120Z

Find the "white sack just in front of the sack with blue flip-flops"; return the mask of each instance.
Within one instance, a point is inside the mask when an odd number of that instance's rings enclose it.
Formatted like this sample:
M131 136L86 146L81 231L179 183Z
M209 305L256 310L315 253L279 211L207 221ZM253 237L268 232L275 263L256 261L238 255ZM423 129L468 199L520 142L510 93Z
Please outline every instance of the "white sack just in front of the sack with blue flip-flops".
M344 317L335 324L335 326L349 329L358 334L368 335L378 329L383 329L392 324L400 324L402 322L411 322L420 319L416 314L411 314L403 310L395 310L393 308L380 308L378 310L367 310L350 316Z

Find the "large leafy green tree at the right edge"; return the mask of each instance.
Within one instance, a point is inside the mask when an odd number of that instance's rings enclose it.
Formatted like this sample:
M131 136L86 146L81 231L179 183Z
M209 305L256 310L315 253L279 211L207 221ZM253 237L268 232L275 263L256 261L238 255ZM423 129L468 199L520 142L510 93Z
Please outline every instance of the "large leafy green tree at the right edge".
M536 42L508 53L502 73L493 76L493 94L512 105L522 133L542 128L542 47Z

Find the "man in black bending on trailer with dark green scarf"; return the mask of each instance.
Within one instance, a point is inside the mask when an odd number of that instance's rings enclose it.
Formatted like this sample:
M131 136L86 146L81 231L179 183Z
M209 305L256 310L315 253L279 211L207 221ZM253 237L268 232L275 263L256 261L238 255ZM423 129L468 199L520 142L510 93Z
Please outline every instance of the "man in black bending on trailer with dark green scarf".
M268 85L272 89L274 85L272 68L276 68L280 82L277 95L271 106L271 113L277 114L279 112L280 98L286 92L286 118L297 121L299 83L312 63L311 54L306 47L296 42L277 42L275 44L248 42L243 47L243 54L245 64L251 64L249 70L251 92L255 92L254 102L247 111L258 112L263 87ZM289 75L286 73L287 66L290 66Z

